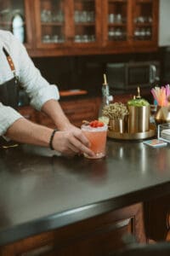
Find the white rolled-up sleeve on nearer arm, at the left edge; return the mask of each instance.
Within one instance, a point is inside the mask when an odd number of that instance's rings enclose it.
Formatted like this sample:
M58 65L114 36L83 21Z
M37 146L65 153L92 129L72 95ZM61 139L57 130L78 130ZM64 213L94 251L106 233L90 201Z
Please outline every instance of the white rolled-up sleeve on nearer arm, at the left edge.
M23 118L23 116L14 110L0 103L0 136L4 135L14 121Z

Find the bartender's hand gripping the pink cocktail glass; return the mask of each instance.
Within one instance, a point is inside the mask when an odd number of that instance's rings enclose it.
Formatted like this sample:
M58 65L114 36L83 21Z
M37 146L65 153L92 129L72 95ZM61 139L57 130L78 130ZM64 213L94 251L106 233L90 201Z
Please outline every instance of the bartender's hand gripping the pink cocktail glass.
M86 153L94 156L94 152L89 149L90 143L82 131L74 125L69 125L65 131L57 131L54 135L53 147L61 154L73 156L75 154Z

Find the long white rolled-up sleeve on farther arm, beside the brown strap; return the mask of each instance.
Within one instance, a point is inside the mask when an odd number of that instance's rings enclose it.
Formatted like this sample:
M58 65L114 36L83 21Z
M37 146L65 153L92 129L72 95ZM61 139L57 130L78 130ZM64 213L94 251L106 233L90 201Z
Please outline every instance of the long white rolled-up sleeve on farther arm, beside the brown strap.
M59 100L58 87L55 84L49 84L48 81L42 77L39 69L35 67L30 56L27 54L24 45L20 44L15 39L14 44L14 56L20 55L20 59L18 61L18 58L16 58L16 62L18 62L20 83L31 99L31 106L40 111L42 105L45 102L48 102L48 100Z

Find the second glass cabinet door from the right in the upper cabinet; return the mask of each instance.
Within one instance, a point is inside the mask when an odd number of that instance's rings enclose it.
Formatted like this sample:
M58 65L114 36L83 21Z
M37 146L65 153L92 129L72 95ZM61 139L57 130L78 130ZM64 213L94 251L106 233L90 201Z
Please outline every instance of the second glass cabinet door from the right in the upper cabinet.
M128 0L107 0L103 10L105 44L125 44L128 37Z

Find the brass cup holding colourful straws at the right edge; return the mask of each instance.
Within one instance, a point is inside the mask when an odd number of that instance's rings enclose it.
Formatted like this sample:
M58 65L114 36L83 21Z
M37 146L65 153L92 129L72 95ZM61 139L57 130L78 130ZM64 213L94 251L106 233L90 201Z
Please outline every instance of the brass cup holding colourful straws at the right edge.
M170 123L170 106L158 107L155 120L157 125Z

